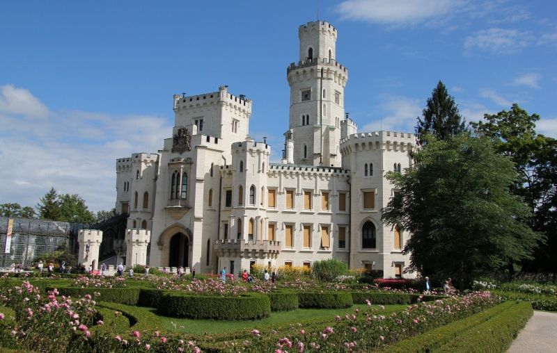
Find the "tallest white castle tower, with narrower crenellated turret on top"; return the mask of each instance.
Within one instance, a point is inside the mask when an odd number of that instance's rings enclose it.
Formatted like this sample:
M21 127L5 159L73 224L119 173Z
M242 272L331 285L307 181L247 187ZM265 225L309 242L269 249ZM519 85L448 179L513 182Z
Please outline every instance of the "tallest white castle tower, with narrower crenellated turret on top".
M290 123L285 160L340 167L340 121L348 70L336 60L337 31L328 22L299 26L299 62L287 69ZM293 148L292 148L293 145Z

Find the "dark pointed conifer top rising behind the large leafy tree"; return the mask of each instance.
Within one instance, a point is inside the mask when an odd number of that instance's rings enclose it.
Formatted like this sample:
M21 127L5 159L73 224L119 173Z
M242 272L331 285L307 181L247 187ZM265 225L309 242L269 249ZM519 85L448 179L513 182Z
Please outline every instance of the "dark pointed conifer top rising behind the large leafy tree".
M466 131L464 118L458 111L453 96L449 95L443 82L439 81L432 91L432 97L427 99L422 111L423 119L418 117L416 137L423 143L423 136L430 133L441 140L450 138Z

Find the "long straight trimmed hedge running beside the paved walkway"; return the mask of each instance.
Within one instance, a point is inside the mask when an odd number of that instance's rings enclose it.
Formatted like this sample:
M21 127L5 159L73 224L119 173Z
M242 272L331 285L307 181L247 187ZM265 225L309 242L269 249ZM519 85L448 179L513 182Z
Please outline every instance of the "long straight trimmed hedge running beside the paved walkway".
M505 352L533 314L530 304L503 302L480 313L389 345L382 352Z

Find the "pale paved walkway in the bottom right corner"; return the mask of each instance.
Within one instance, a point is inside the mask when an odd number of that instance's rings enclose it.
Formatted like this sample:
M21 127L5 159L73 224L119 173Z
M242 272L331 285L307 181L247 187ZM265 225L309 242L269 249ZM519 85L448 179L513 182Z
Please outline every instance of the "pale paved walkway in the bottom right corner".
M557 313L534 311L507 353L557 352Z

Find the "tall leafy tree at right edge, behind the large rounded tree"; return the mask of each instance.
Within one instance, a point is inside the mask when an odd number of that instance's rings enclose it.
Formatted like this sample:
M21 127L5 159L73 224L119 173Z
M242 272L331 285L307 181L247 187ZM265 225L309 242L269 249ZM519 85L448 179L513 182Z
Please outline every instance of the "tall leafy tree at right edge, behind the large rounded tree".
M515 163L518 178L512 192L528 204L534 214L529 220L535 231L547 236L547 245L535 252L534 261L526 261L526 270L557 274L557 140L535 131L538 114L513 104L510 110L484 115L484 121L472 123L474 131L494 142L496 150Z

